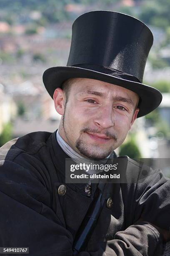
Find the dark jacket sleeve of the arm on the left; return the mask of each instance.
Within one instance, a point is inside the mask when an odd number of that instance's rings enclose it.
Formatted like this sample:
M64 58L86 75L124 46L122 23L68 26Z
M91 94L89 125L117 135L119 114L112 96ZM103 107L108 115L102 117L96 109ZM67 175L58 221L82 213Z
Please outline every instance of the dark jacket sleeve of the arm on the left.
M48 207L49 192L22 166L0 161L0 247L30 256L72 255L72 235Z

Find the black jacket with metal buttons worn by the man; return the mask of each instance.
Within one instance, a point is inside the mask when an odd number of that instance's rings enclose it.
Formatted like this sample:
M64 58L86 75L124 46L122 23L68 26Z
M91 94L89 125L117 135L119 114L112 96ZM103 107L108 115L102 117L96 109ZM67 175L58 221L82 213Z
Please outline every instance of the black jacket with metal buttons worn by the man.
M85 184L65 184L69 156L55 135L30 133L0 148L0 247L29 247L30 256L72 255L75 234L97 184L92 184L90 197L84 192ZM136 168L134 161L128 161ZM57 192L60 184L67 188L63 196ZM104 196L112 197L113 207L104 205L79 255L160 255L162 237L145 221L169 230L169 191L170 180L160 170L145 183L112 184ZM145 221L138 221L141 217Z

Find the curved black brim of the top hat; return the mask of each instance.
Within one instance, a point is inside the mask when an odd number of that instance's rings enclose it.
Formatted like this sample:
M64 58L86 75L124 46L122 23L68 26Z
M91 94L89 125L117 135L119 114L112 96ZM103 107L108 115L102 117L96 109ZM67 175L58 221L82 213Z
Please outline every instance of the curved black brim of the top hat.
M151 86L80 67L51 67L45 70L43 82L47 92L53 98L57 87L61 87L65 80L76 77L97 79L136 92L140 96L138 118L152 112L162 101L160 91Z

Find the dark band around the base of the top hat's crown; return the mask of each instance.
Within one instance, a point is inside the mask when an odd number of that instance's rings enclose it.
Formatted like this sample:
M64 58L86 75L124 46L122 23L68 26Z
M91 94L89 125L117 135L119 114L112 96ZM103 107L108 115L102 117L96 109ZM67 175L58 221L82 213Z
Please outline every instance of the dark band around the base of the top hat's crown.
M137 77L127 74L125 72L122 72L120 70L110 68L110 67L99 66L99 65L95 65L95 64L76 64L76 65L72 65L71 67L80 67L83 69L90 69L90 70L97 71L97 72L100 72L103 74L108 74L113 77L118 77L118 78L122 78L125 80L142 83L142 81L140 81Z

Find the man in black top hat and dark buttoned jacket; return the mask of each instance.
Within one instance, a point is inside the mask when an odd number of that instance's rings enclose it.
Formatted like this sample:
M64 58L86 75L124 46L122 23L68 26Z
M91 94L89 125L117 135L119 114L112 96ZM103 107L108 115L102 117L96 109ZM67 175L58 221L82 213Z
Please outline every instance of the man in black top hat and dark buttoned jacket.
M104 189L65 182L65 159L116 159L114 150L135 119L160 104L160 92L142 84L152 43L149 28L128 15L95 11L75 20L67 67L43 75L62 115L59 129L30 133L0 149L1 247L73 255L101 196L97 223L77 255L161 255L169 240L170 182L160 170L139 182L138 163L128 159L129 182Z

